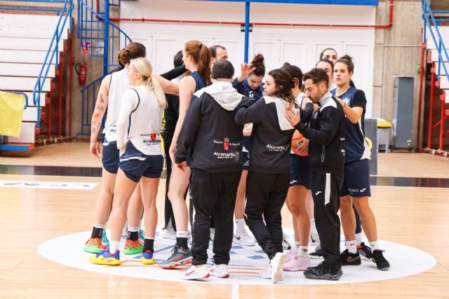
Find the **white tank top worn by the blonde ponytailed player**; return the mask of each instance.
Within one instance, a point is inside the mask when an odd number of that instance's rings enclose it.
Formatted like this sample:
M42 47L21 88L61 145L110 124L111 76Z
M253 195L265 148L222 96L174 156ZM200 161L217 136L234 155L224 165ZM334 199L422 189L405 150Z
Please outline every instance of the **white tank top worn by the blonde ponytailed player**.
M136 92L137 91L137 92ZM122 117L128 117L127 135L135 148L144 155L162 155L161 126L163 108L156 95L145 85L123 94ZM131 110L132 109L132 110Z

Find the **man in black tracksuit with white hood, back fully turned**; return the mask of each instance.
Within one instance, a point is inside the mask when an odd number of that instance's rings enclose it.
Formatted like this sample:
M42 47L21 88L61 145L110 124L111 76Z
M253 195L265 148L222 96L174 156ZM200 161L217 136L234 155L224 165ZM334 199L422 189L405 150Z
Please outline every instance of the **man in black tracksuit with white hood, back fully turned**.
M234 123L234 110L243 96L232 88L232 76L234 67L231 62L221 60L214 65L213 84L194 93L177 139L177 167L184 169L187 166L189 148L192 157L193 266L187 270L185 279L209 275L206 262L211 216L215 219L214 263L221 266L219 277L229 275L227 264L234 233L234 204L241 176L243 138L243 125Z

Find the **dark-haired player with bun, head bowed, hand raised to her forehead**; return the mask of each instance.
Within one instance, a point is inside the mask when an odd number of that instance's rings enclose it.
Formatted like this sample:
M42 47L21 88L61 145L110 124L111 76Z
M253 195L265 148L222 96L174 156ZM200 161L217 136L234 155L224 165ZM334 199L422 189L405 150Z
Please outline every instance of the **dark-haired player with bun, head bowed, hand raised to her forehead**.
M241 95L245 95L250 99L250 104L253 105L263 95L262 80L265 76L265 64L262 54L257 54L250 64L241 65L241 74L234 79L232 86ZM234 214L236 217L236 233L234 235L234 242L243 246L254 246L253 238L248 235L245 228L245 219L243 218L243 210L245 209L245 193L246 193L246 177L248 176L248 168L250 164L250 136L253 124L247 123L243 128L243 171L239 182L239 189L236 196L236 207Z

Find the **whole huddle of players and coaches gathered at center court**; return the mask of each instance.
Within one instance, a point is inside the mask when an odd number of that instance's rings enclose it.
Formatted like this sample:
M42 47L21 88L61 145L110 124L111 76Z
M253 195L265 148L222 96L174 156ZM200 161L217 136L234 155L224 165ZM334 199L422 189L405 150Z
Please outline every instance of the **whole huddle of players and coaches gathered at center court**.
M269 258L259 277L273 283L283 271L337 280L342 266L361 265L362 257L389 269L368 201L366 97L351 81L351 57L337 59L327 48L305 74L288 63L266 74L258 54L234 76L226 48L200 41L185 43L165 74L153 74L145 56L145 46L129 43L119 53L122 67L103 79L98 92L91 153L101 155L102 187L83 248L95 253L92 263L120 265L121 238L124 254L155 263L156 195L165 155L161 236L175 244L159 267L189 266L183 279L229 277L232 243L256 241ZM105 113L101 153L97 137ZM284 203L293 216L295 244L283 234ZM339 209L347 247L342 253ZM319 243L312 253L309 242ZM310 258L323 262L312 267Z

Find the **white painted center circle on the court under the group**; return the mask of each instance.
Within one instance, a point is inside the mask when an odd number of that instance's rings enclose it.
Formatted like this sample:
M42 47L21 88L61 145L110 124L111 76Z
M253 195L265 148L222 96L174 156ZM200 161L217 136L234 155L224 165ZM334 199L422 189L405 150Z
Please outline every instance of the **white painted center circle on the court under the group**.
M293 235L293 230L284 230L288 236ZM184 281L180 277L183 270L164 270L158 265L142 265L139 255L127 256L121 250L121 265L94 265L88 261L91 253L82 250L83 244L90 237L91 232L78 232L72 235L56 237L43 242L37 251L41 256L55 263L74 267L81 270L100 272L104 274L119 275L123 277L136 277L141 279L155 279L164 281ZM109 235L109 231L108 231ZM157 232L156 232L157 235ZM293 239L293 237L290 237ZM156 263L170 256L175 240L156 237L154 242L154 258ZM340 246L344 247L341 242ZM284 272L283 278L278 284L285 285L312 285L312 284L349 284L364 281L379 281L394 279L418 274L434 267L436 260L429 253L402 244L380 240L380 246L385 251L384 256L391 264L389 271L377 270L371 260L362 260L362 265L343 267L342 278L338 281L322 281L307 279L302 272ZM123 242L121 242L123 249ZM309 251L314 251L315 246L309 246ZM269 264L267 256L260 246L239 246L233 244L230 251L228 279L210 277L205 280L212 284L246 284L246 285L270 285L270 279L262 279L257 273ZM67 259L70 256L70 259ZM212 265L212 245L208 249L208 263ZM322 259L312 259L312 265L321 263ZM189 281L192 282L192 281Z

